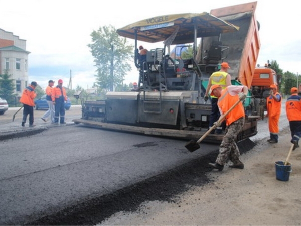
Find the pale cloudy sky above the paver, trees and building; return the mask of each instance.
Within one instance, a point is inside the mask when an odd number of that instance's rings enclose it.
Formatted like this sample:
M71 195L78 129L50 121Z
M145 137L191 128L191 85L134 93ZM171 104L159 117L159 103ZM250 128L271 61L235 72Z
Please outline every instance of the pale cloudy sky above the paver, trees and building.
M116 29L130 23L165 14L201 13L211 9L253 1L214 0L153 0L142 1L68 1L68 0L0 0L0 28L27 40L29 80L42 87L49 79L63 79L67 86L72 75L72 87L87 88L95 82L93 57L87 47L90 34L101 26ZM277 2L258 0L256 17L260 22L261 49L258 62L277 60L284 71L301 73L301 36L299 8L292 0ZM132 42L131 40L129 40ZM141 43L143 44L143 43ZM162 43L158 43L162 47ZM147 46L145 44L144 46ZM135 68L125 77L125 83L135 82Z

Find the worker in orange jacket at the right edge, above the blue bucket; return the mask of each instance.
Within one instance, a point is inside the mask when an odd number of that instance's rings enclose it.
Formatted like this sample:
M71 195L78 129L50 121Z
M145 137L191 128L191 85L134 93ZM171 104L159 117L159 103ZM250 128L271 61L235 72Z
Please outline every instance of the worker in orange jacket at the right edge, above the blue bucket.
M291 96L287 98L285 105L291 132L290 142L294 144L292 150L295 150L299 147L299 140L301 138L301 97L298 95L296 87L292 87L290 93Z

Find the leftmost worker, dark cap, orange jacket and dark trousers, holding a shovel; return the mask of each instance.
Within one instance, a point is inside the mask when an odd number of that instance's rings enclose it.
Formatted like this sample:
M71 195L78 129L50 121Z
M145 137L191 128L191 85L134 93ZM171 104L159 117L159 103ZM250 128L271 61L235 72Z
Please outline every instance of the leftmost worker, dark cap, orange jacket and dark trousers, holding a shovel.
M21 126L25 126L26 118L29 115L29 126L34 127L34 98L36 98L37 94L35 93L35 89L37 86L37 82L33 81L28 87L23 90L22 96L20 98L20 102L23 103L23 118Z

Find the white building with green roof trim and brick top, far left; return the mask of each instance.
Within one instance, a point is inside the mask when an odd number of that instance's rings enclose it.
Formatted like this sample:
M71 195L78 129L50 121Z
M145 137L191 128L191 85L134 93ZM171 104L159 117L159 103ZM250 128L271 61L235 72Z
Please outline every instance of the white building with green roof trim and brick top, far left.
M26 40L0 29L0 74L6 72L14 80L15 93L21 96L28 86L28 54Z

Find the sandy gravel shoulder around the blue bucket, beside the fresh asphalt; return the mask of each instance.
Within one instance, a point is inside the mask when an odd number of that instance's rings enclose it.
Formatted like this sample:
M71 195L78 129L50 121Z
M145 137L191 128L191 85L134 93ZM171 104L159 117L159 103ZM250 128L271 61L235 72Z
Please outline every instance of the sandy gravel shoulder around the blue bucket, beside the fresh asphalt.
M245 169L208 173L212 182L195 186L175 202L144 202L135 212L118 212L99 225L300 225L301 148L290 156L289 181L276 180L276 161L285 161L290 131L279 143L266 139L241 156Z

